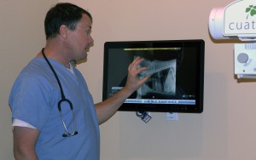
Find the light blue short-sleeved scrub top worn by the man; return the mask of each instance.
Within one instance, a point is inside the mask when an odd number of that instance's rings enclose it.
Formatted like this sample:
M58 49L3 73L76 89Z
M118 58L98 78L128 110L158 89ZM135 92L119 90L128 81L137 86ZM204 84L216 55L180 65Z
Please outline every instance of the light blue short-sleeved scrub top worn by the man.
M61 90L44 58L33 59L17 77L9 96L12 118L30 123L39 131L36 152L40 160L98 160L100 151L99 125L96 109L82 74L74 74L55 60L49 59L58 75L65 97L73 103L79 134L62 137L57 104ZM67 128L73 132L73 116L67 103L61 112Z

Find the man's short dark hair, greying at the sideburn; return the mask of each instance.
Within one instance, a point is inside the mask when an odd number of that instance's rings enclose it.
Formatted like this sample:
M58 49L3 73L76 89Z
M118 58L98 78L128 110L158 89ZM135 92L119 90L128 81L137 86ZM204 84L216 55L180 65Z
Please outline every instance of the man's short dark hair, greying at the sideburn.
M72 3L57 3L49 9L44 20L46 39L55 38L60 34L61 25L66 25L70 30L75 30L83 14L87 14L92 22L91 14Z

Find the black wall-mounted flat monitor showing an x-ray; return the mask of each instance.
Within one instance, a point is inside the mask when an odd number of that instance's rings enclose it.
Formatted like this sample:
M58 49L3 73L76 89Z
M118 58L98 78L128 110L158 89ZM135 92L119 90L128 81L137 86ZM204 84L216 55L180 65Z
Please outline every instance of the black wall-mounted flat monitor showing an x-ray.
M203 111L204 51L201 39L106 42L104 45L103 100L125 86L128 66L143 57L137 76L150 74L146 83L125 100L119 111Z

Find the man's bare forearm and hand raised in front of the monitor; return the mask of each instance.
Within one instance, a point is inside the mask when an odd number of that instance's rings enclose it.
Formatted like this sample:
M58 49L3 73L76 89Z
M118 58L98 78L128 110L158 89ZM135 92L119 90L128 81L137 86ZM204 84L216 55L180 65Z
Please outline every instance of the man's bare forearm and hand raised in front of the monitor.
M124 101L148 80L150 77L149 75L143 77L143 79L137 77L137 74L141 71L148 70L147 67L137 67L142 61L142 58L137 57L137 59L131 63L128 68L127 81L123 89L119 90L118 93L113 94L108 98L108 100L104 100L96 104L96 114L99 124L105 123L110 117L112 117Z

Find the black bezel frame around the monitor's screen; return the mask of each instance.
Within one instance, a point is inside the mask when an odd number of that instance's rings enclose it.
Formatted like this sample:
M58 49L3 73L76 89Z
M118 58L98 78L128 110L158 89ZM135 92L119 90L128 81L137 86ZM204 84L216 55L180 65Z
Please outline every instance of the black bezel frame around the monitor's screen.
M203 111L203 92L204 92L204 54L205 42L202 39L189 40L160 40L160 41L119 41L104 43L104 63L103 63L103 90L102 100L108 97L108 49L123 49L123 48L139 48L154 45L154 47L165 46L169 47L186 47L193 46L198 50L196 57L196 96L195 105L166 105L166 104L126 104L119 107L119 111L154 111L154 112L187 112L201 113Z

